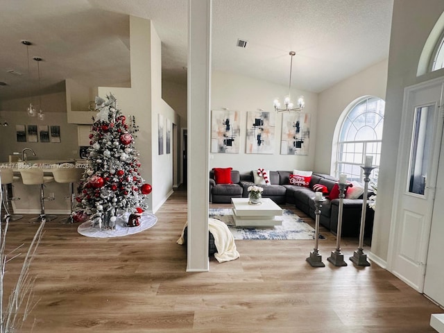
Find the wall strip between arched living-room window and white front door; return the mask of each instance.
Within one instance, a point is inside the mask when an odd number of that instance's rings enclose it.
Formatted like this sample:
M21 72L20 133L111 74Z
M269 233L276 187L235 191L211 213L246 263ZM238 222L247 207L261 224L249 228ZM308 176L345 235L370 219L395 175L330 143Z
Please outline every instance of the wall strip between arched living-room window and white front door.
M400 142L404 87L444 75L441 69L416 77L422 48L443 11L442 0L427 0L427 6L418 0L395 0L393 6L384 137L372 241L372 254L382 262L388 257L398 150L400 144L409 144Z

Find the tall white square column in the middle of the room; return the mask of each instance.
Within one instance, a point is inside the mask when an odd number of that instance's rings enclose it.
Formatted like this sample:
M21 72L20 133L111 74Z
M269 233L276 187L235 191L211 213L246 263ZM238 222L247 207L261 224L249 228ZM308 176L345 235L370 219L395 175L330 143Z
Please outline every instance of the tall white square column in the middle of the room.
M188 0L188 259L187 272L209 271L212 0Z

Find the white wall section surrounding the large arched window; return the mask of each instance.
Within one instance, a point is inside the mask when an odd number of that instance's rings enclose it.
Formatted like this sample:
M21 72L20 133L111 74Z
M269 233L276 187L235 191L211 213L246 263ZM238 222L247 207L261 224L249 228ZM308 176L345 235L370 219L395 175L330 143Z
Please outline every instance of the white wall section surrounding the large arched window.
M314 169L332 173L334 130L345 108L361 96L377 96L385 100L388 60L368 67L340 83L325 89L318 99L318 127Z

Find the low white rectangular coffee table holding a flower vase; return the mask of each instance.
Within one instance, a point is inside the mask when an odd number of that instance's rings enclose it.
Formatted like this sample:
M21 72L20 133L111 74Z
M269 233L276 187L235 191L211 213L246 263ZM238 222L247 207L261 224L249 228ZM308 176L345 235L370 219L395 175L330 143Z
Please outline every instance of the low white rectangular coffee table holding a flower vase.
M271 198L262 198L260 205L251 205L248 198L231 198L234 224L242 227L273 227L282 225L282 208Z

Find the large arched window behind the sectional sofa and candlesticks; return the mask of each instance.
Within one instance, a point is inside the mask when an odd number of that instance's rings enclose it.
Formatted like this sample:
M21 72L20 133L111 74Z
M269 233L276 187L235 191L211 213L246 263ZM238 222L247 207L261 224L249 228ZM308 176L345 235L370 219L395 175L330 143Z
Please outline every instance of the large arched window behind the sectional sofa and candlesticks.
M339 132L336 177L345 173L348 180L362 182L364 175L361 165L370 155L373 156L373 167L376 167L370 174L370 180L377 182L384 108L385 102L377 97L366 97L352 105Z

